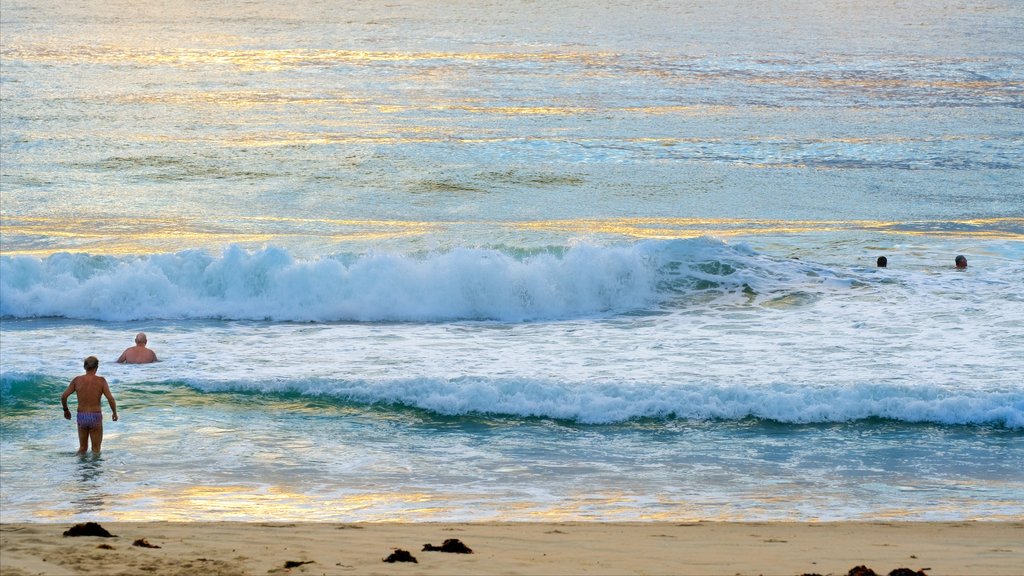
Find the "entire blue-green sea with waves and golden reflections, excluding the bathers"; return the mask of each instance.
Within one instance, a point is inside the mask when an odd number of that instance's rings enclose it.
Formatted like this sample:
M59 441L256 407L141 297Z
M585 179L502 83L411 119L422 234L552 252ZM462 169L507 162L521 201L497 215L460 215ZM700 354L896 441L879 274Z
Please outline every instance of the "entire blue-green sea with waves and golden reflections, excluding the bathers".
M1022 30L5 0L0 520L1020 520Z

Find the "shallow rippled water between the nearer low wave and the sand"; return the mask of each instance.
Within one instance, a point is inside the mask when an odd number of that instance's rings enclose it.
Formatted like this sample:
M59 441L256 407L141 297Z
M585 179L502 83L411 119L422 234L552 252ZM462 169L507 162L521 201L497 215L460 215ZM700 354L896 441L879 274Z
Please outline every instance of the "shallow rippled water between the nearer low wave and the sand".
M586 425L155 387L121 390L131 409L106 423L99 457L60 450L70 426L32 433L37 417L8 416L7 434L30 446L5 446L5 522L1013 520L1024 512L1019 430L881 419ZM40 459L40 451L51 456ZM30 478L45 479L53 493L24 485Z

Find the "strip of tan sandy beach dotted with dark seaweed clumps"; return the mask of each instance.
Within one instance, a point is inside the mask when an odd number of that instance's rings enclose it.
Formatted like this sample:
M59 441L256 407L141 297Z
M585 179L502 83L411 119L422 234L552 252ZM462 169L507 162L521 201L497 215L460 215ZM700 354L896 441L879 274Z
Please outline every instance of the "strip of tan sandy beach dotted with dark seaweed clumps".
M109 523L0 526L0 572L27 574L1020 574L1013 523ZM472 553L423 551L458 539ZM133 542L144 540L157 547ZM388 564L395 549L417 560ZM286 568L286 563L292 563ZM298 564L304 563L304 564ZM296 565L297 564L297 565Z

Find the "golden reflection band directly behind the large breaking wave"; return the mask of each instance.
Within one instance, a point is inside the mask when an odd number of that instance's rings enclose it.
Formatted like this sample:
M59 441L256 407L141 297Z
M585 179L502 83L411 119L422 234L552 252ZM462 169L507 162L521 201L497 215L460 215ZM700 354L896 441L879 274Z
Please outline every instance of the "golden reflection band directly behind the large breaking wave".
M895 236L1024 240L1024 218L955 221L778 220L745 218L592 218L527 221L417 221L257 216L227 222L183 218L8 217L0 224L0 253L48 255L88 252L96 255L288 245L292 241L333 244L397 240L467 229L506 229L515 234L604 235L649 240L734 238L835 232L871 232Z

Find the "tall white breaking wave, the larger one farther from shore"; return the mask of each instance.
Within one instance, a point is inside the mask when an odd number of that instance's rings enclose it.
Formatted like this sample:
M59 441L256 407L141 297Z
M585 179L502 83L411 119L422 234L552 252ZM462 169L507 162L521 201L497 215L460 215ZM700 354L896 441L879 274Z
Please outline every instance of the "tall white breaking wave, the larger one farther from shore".
M765 279L756 259L713 240L309 260L280 248L239 247L220 255L189 250L138 257L5 256L0 315L103 321L559 319L644 308L667 294L709 286L757 286Z

